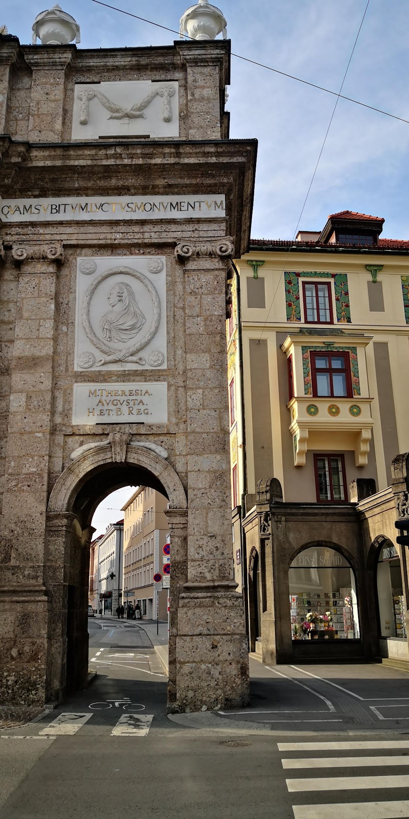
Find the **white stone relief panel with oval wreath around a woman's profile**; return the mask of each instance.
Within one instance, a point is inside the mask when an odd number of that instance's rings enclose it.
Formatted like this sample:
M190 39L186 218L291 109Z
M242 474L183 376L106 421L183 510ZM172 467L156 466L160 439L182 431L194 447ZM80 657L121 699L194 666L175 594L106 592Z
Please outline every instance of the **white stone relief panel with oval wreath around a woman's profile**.
M77 260L74 369L166 369L164 256Z

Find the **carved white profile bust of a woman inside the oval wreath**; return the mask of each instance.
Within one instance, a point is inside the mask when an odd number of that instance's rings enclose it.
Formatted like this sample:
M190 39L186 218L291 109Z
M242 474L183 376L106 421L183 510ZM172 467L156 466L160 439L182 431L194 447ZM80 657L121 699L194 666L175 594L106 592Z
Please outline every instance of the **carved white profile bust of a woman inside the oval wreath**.
M103 337L107 342L130 342L146 322L133 288L126 282L115 284L108 301L111 309L101 318Z

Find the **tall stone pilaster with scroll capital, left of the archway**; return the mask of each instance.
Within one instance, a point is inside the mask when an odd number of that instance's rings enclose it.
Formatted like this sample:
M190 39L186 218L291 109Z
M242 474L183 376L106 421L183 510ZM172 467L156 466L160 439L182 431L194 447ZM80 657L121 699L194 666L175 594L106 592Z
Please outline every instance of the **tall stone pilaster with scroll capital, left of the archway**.
M25 586L28 594L35 595L36 606L43 594L43 606L47 609L43 589L44 533L52 413L56 260L62 259L62 247L19 245L13 247L11 255L20 265L20 271L2 505L2 582L10 593L15 585ZM20 607L20 598L16 604ZM19 628L16 632L17 653L21 634L25 635L26 657L31 645L39 678L39 669L45 663L47 623L44 628L42 618L32 618L26 631ZM40 699L43 689L44 686L38 686ZM8 698L16 702L20 698L25 703L32 699L32 695L29 688L24 692L21 686L11 686Z

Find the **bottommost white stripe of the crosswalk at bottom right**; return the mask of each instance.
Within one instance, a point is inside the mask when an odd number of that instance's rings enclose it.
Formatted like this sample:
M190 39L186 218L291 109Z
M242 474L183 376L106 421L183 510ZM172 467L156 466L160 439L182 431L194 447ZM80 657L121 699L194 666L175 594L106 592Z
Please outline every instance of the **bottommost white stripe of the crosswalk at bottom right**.
M293 805L294 819L405 819L409 802L350 802L329 805Z

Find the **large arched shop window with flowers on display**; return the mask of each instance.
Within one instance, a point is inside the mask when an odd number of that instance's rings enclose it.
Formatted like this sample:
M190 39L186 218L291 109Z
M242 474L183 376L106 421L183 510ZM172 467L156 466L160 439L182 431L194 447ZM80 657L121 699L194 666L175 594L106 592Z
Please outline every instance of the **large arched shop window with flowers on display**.
M289 569L293 640L357 640L359 620L353 570L342 554L312 546Z

